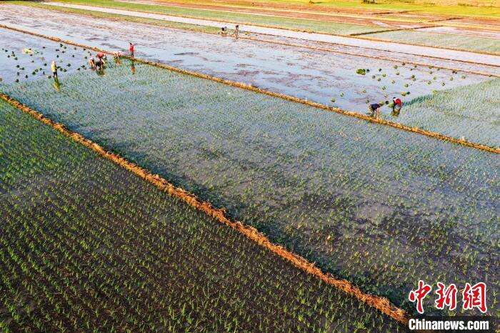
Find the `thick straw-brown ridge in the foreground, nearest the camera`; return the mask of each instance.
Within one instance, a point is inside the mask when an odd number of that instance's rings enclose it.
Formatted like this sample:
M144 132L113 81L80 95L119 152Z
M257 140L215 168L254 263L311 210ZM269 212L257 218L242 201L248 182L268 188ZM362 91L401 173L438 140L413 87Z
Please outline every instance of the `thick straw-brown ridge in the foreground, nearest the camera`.
M51 126L53 129L56 129L56 131L59 131L64 136L67 136L73 141L86 146L87 148L95 151L100 156L109 159L110 161L114 162L114 164L117 164L120 167L128 170L129 172L136 174L136 176L139 176L140 178L146 180L146 182L154 184L158 189L168 193L171 197L181 199L183 202L186 202L186 204L189 204L189 206L193 207L194 209L204 212L205 214L216 219L222 224L226 224L227 226L235 229L241 234L244 234L244 236L256 242L261 247L269 249L274 254L277 254L279 257L285 259L287 262L293 264L295 267L303 270L304 272L314 275L326 284L341 289L343 292L346 292L346 294L355 297L361 302L369 304L371 307L378 309L380 312L395 319L397 322L401 322L402 324L408 323L408 314L403 309L399 309L394 304L391 304L391 302L389 302L389 299L362 292L361 289L354 286L354 284L351 284L351 282L347 281L346 279L337 279L330 273L322 272L321 269L316 267L314 263L308 262L306 259L304 259L304 257L301 257L298 254L294 254L293 252L289 252L289 250L285 249L281 245L272 243L269 238L267 238L264 234L259 232L259 230L255 229L254 227L250 227L239 221L233 221L229 219L228 217L226 217L225 209L218 209L213 207L209 202L201 201L201 199L196 197L194 194L191 194L190 192L187 192L180 187L175 187L174 184L171 184L166 179L160 177L158 174L152 174L148 170L139 167L139 165L134 164L127 159L124 159L124 157L121 157L118 154L114 154L111 151L106 151L106 149L104 149L99 144L96 144L94 141L86 139L81 134L67 129L63 124L47 118L39 111L21 104L21 102L11 98L6 94L0 93L0 98L9 103L11 106L14 106L16 109L19 109L20 111L31 115L42 123Z

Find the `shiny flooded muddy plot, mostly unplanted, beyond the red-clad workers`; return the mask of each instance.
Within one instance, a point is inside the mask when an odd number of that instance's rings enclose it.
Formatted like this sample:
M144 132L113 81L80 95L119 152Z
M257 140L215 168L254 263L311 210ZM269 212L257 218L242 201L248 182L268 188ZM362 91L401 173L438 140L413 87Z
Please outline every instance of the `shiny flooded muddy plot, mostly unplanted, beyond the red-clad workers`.
M16 15L19 7L8 9L1 10L0 17L9 25L16 22L16 26L41 34L111 51L126 50L128 41L134 41L136 56L363 113L366 104L390 100L392 96L409 100L433 90L489 80L488 76L455 74L397 61L147 24L124 25L56 11L47 15L46 11L31 9L30 19L19 19ZM361 68L369 71L365 75L356 74Z

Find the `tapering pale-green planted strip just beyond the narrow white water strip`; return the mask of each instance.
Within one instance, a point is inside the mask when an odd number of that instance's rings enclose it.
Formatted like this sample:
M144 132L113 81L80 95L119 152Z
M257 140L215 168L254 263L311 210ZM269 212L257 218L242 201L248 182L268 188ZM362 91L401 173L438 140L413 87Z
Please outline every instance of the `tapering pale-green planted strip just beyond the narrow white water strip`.
M229 13L226 11L206 11L201 9L179 8L174 6L155 6L149 4L134 4L129 2L115 2L110 0L62 0L58 2L82 4L87 6L102 6L131 11L147 11L155 14L189 16L196 19L213 19L218 21L234 22L238 24L278 26L284 29L314 31L325 34L348 35L386 30L380 26L362 26L357 24L331 23L307 19L290 19L287 17L277 16Z

